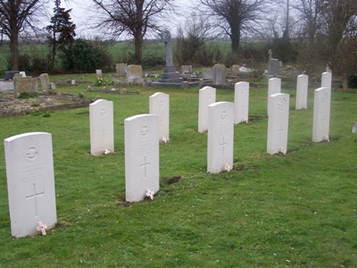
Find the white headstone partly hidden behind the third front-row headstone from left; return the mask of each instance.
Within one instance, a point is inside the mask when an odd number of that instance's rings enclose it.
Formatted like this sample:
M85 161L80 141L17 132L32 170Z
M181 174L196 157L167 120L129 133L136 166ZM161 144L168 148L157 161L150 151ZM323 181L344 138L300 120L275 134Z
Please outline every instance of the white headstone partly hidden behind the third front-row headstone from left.
M198 132L208 130L208 105L216 102L216 88L203 87L198 91Z

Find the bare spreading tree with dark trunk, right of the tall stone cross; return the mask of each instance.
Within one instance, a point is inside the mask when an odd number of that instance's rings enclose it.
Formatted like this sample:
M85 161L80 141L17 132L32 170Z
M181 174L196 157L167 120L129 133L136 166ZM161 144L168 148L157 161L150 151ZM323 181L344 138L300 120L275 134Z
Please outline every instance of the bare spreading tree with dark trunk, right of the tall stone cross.
M200 0L204 12L212 17L212 27L222 29L231 41L232 53L237 54L243 33L256 31L268 0Z

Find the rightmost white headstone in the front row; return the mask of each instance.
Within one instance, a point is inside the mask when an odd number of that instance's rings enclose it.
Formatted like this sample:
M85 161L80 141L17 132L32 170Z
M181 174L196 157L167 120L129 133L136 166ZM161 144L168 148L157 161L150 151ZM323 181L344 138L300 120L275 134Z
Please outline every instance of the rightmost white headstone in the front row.
M313 98L312 141L329 140L330 88L317 88Z

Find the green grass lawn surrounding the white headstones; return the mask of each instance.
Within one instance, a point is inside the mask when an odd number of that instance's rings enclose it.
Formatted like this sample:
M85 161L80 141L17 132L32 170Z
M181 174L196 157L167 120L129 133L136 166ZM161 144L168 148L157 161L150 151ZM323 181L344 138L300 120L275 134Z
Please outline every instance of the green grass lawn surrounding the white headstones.
M87 77L94 83L95 75ZM283 85L290 94L287 154L268 155L267 88L251 89L250 121L235 126L234 169L209 174L198 88L129 88L139 95L86 88L57 91L113 102L113 154L90 155L88 107L0 119L1 140L52 134L58 218L46 236L12 238L1 142L0 267L357 266L356 94L332 93L330 141L312 143L313 91L308 110L295 111L295 90ZM124 119L148 113L155 92L170 95L161 189L154 200L129 204ZM233 102L234 90L217 89L216 100Z

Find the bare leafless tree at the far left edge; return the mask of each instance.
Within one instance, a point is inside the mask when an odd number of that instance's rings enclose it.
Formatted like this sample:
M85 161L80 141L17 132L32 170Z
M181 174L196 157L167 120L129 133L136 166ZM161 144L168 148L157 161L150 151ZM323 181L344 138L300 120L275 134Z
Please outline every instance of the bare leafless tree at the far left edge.
M12 70L19 69L19 36L29 27L37 29L38 15L45 11L45 0L0 0L0 28L10 40Z

